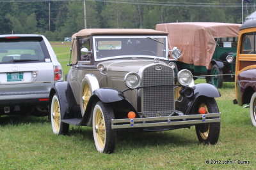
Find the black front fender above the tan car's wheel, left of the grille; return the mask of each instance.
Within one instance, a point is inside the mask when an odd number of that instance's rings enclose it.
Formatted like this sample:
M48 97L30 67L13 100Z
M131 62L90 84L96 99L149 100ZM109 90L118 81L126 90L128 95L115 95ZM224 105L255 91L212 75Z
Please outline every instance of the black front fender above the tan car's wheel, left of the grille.
M127 107L135 111L132 104L124 97L122 92L110 88L96 89L93 91L92 96L88 101L81 125L92 126L92 111L93 107L98 101L111 104L112 106L115 106L115 104L120 104L119 102L122 101Z

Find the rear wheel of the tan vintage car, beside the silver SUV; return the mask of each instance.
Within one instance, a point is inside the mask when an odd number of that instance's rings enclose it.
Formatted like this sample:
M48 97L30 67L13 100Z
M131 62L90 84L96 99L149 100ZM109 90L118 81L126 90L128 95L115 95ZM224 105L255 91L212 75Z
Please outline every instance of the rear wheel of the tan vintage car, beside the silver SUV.
M54 134L67 134L69 124L61 122L61 108L58 94L54 94L51 103L51 122Z

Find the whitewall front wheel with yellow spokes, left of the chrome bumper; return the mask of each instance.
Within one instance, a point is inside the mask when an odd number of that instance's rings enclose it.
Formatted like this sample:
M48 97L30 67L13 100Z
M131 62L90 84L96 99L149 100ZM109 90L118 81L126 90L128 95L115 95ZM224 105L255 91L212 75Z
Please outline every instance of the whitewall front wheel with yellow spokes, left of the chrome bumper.
M115 150L116 131L111 129L113 109L108 104L98 102L93 109L93 138L100 153L112 153Z

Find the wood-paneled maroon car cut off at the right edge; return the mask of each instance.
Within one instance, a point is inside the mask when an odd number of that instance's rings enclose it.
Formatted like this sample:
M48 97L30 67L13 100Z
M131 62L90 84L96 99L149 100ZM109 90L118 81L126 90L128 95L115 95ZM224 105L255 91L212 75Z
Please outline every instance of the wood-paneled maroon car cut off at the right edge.
M241 26L237 45L236 99L234 104L248 108L256 126L256 21Z

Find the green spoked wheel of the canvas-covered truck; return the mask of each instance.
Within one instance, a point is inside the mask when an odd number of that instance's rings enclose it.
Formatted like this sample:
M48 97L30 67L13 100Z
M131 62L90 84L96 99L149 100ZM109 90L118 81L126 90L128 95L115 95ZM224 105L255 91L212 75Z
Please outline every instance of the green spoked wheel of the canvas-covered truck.
M221 88L223 83L223 76L217 76L219 74L223 74L222 69L214 64L211 70L211 84L214 85L216 88Z

